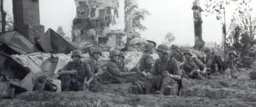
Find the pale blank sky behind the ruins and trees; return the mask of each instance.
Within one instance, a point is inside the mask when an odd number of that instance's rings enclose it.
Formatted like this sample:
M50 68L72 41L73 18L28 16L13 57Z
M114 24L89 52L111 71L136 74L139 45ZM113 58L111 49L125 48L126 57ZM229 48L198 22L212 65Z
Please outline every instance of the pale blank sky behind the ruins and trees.
M154 40L161 44L167 32L172 32L176 39L174 44L190 46L194 45L194 22L192 4L194 0L138 0L139 7L150 12L143 25L146 31L141 31L142 38ZM4 8L12 13L11 0L4 1ZM201 0L204 8L205 0ZM251 2L256 6L256 1ZM232 11L235 6L227 8L227 23L230 23ZM256 15L255 10L253 14ZM44 25L45 31L48 28L57 30L62 26L66 34L71 35L72 20L76 15L76 6L73 0L40 0L40 21ZM216 20L214 15L207 16L202 12L202 39L205 42L217 42L222 40L221 22ZM227 24L228 25L228 24ZM228 26L227 26L228 27Z

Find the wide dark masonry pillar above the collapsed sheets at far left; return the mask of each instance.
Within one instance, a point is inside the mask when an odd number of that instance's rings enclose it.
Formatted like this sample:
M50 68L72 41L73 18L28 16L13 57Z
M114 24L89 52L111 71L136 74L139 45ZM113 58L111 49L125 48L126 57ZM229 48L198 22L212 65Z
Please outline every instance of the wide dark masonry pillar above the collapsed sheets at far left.
M34 44L44 34L40 25L39 0L12 0L14 12L14 30Z

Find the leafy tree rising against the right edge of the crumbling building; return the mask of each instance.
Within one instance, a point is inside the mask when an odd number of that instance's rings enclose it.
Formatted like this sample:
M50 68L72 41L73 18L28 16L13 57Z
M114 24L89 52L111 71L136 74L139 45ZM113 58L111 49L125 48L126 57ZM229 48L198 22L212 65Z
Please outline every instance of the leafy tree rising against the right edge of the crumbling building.
M146 26L142 24L142 20L145 20L150 13L146 9L140 9L139 5L137 4L136 0L125 0L124 1L124 19L127 24L127 17L130 13L133 16L133 31L144 31L147 30ZM124 31L126 31L125 28Z

